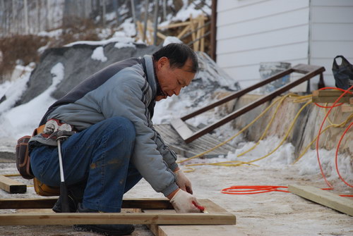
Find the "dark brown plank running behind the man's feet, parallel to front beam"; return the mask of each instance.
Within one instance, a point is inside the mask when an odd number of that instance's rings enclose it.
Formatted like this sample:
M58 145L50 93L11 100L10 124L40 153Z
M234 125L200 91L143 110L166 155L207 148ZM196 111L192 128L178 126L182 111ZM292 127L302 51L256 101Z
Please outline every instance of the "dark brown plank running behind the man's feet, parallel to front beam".
M52 208L57 197L33 199L0 199L0 209L48 209ZM164 198L123 199L123 209L173 209L169 200Z

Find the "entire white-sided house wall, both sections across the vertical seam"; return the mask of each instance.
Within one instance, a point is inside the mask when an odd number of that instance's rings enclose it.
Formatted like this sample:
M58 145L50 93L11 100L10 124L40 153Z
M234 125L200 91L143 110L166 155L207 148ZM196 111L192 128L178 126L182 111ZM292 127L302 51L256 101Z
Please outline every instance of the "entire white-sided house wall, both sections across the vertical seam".
M352 0L217 1L217 64L241 87L260 81L260 63L273 61L325 66L325 84L333 86L339 54L353 63ZM317 83L311 79L311 89Z

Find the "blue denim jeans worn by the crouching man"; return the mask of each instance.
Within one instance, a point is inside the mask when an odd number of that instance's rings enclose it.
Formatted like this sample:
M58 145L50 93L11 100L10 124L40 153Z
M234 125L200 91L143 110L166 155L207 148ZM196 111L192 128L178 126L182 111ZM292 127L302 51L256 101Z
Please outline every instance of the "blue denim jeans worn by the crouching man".
M66 186L86 181L83 206L120 212L122 198L142 178L131 163L135 128L130 120L109 118L68 137L61 143ZM35 147L32 172L49 186L60 185L57 147Z

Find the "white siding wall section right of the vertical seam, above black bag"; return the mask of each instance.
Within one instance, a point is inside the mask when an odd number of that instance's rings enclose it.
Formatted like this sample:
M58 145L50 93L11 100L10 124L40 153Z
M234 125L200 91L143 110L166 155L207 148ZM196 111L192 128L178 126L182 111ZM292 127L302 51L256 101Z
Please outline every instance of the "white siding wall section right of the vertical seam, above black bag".
M333 58L342 55L353 64L352 0L311 0L309 49L309 62L325 66L325 85L334 86Z

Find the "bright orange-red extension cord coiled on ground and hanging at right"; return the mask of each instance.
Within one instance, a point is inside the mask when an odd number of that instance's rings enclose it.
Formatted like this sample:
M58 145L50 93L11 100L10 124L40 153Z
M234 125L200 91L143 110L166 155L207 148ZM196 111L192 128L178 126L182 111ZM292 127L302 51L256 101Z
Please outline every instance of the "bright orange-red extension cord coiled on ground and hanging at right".
M325 188L322 190L333 190L333 186L330 184L330 182L328 182L328 180L325 177L325 174L323 173L323 168L321 166L321 161L319 158L319 154L318 154L318 140L319 137L321 135L321 130L323 128L323 124L325 123L325 120L328 118L328 114L330 113L330 111L337 106L342 105L341 104L337 104L338 101L340 101L340 99L345 96L345 94L349 93L352 94L352 92L349 92L350 89L352 89L352 87L349 87L349 89L345 90L345 89L339 89L336 87L324 87L320 90L323 89L337 89L337 90L341 90L342 93L340 95L340 97L338 97L338 99L335 101L335 103L333 104L333 106L321 106L319 104L316 104L316 106L320 106L321 108L330 108L330 110L328 111L328 113L326 113L325 118L323 119L323 122L321 123L321 127L320 130L318 132L318 139L316 139L316 154L318 157L318 165L320 166L320 170L321 170L321 175L323 176L323 179L325 180L326 184L330 187L330 188ZM340 138L340 141L337 144L337 149L336 149L336 154L335 154L335 166L336 166L336 170L337 170L337 174L340 177L340 180L342 180L342 182L345 182L345 184L349 187L353 187L353 185L349 185L348 182L346 182L342 176L340 175L340 170L338 169L338 165L337 165L337 159L338 159L338 150L340 148L340 144L342 142L343 137L345 136L345 134L347 133L347 131L349 130L349 128L351 128L353 125L353 122L349 124L349 126L346 128L345 132L343 132L343 135ZM222 194L261 194L261 193L265 193L265 192L289 192L287 190L279 190L279 188L285 188L287 189L288 187L286 186L272 186L272 185L239 185L239 186L232 186L232 187L227 187L223 190L221 190ZM340 195L341 197L353 197L353 195Z

